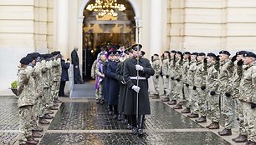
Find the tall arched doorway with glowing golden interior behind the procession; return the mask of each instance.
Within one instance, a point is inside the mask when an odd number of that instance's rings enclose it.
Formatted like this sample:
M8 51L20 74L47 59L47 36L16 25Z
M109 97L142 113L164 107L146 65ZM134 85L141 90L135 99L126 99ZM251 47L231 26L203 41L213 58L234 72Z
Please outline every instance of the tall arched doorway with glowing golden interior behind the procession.
M128 0L118 0L124 4L125 10L116 11L117 16L106 14L100 16L98 12L89 11L86 7L95 3L90 0L83 11L83 78L90 79L92 63L100 52L100 46L110 43L115 47L128 47L136 42L136 13Z

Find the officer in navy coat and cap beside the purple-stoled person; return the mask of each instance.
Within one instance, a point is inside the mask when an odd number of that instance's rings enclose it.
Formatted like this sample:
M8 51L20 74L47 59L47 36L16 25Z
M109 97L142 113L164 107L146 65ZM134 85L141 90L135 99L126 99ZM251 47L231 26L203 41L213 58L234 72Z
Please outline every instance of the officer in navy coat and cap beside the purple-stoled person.
M109 105L114 107L114 119L117 118L118 110L118 95L119 95L119 81L118 75L116 74L116 68L120 62L120 51L114 52L114 61L109 62L106 74L110 77L110 93L109 93Z

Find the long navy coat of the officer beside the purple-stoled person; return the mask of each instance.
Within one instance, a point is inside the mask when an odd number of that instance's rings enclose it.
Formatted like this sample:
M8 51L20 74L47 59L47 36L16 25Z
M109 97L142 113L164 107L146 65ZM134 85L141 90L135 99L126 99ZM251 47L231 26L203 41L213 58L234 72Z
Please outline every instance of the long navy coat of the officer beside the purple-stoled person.
M107 74L110 77L110 96L109 96L109 105L117 105L118 104L118 95L119 95L119 87L120 84L117 80L116 68L118 66L118 62L110 62L107 67Z

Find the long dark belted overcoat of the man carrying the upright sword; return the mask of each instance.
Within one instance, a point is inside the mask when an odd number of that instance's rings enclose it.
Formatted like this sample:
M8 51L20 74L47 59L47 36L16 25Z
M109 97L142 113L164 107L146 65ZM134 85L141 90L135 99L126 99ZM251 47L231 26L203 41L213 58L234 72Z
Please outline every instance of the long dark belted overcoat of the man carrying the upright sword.
M137 92L131 89L132 86L137 85L136 79L131 79L131 77L137 76L136 71L137 59L136 57L132 57L131 59L125 62L124 68L124 77L127 85L127 94L125 97L125 114L133 115L136 114L136 97ZM139 65L141 65L144 69L143 71L139 71L139 76L144 77L145 79L139 79L138 86L141 87L139 92L139 114L145 115L151 113L151 107L148 96L148 80L149 76L153 76L155 71L151 67L151 63L148 59L140 57Z

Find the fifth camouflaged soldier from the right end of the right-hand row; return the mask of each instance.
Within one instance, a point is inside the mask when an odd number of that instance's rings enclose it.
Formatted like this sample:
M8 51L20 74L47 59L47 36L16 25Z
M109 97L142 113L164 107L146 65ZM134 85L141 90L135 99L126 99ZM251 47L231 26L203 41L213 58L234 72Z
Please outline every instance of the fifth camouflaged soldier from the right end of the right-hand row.
M200 52L197 56L197 68L194 75L193 99L197 100L193 104L193 111L200 114L196 122L207 122L207 97L206 97L206 61L205 53Z

